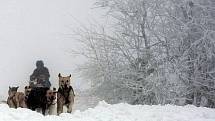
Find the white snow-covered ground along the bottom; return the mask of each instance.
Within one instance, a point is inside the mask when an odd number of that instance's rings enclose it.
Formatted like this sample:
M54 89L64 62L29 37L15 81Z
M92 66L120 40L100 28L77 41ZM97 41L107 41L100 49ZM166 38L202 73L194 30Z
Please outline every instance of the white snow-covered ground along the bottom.
M0 104L0 121L215 121L215 110L173 105L110 105L99 102L95 108L76 110L72 114L47 115L29 109L11 109Z

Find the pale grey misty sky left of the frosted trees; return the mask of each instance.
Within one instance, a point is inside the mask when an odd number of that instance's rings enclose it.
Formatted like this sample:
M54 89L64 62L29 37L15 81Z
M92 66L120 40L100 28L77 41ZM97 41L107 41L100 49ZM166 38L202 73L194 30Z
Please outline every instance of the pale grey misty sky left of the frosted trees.
M77 46L67 35L80 23L97 17L91 9L94 2L0 0L0 99L7 96L9 85L23 88L27 84L38 59L49 68L54 85L59 72L75 76L73 70L80 59L69 53ZM84 88L81 80L73 80L76 88Z

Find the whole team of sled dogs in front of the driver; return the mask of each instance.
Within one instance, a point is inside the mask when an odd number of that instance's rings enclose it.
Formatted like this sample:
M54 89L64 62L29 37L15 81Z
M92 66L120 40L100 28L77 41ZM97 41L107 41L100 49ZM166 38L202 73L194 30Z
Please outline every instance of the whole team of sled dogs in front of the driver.
M24 92L18 92L19 87L9 87L7 104L10 108L29 108L31 110L41 109L45 115L54 110L53 106L57 100L57 115L63 113L63 106L67 107L67 112L72 112L74 104L74 90L71 86L71 75L63 77L58 74L59 88L50 89L47 87L26 86Z

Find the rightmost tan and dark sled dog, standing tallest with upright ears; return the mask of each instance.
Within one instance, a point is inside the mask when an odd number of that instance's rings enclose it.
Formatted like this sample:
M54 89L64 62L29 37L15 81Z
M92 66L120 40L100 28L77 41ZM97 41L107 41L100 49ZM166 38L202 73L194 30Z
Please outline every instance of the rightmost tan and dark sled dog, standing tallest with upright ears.
M67 77L62 77L61 74L58 74L59 77L59 88L57 93L57 114L63 113L63 106L66 105L67 113L72 112L72 106L74 104L74 90L70 85L71 75Z

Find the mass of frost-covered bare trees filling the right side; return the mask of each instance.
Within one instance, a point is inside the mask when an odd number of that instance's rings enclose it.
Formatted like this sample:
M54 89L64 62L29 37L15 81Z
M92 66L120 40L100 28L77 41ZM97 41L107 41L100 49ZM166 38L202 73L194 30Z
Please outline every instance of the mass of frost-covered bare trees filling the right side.
M98 0L111 29L79 31L94 93L112 103L213 105L214 4Z

